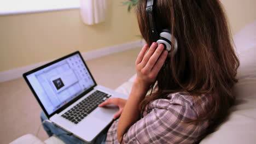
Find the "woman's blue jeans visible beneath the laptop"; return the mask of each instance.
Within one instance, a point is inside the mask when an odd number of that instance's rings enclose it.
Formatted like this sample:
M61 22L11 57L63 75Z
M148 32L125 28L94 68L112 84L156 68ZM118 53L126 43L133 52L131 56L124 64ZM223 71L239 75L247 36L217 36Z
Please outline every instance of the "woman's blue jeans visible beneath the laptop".
M67 144L79 144L79 143L84 143L84 144L87 144L87 142L83 141L83 140L80 140L78 137L75 137L73 135L68 135L69 133L66 131L66 130L63 130L62 128L60 127L57 127L55 124L53 123L50 123L48 121L45 121L46 119L48 119L46 117L46 115L44 114L44 112L42 111L41 114L40 114L40 118L41 118L41 121L42 121L42 124L43 124L43 127L44 127L44 130L46 131L46 133L49 135L49 136L52 136L52 135L56 135L58 136L63 142L67 143ZM97 143L97 144L105 144L105 141L106 141L106 137L107 137L107 132L108 132L108 129L105 129L104 131L101 132L100 135L98 135L96 137L96 139L91 142L91 143Z

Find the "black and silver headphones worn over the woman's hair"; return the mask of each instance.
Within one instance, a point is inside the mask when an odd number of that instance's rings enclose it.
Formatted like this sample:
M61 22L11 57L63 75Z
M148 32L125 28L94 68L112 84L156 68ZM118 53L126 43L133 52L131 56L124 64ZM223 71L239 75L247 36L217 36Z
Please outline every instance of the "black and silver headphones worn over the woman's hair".
M158 45L163 44L165 46L165 49L170 52L172 49L172 44L174 45L174 54L177 52L178 49L178 43L177 39L172 36L171 32L168 29L162 29L161 33L158 34L156 31L156 25L155 25L155 20L154 20L154 13L153 13L153 5L154 5L154 0L148 0L147 1L147 7L146 7L146 13L148 17L148 22L150 26L150 35ZM173 41L172 41L173 37Z

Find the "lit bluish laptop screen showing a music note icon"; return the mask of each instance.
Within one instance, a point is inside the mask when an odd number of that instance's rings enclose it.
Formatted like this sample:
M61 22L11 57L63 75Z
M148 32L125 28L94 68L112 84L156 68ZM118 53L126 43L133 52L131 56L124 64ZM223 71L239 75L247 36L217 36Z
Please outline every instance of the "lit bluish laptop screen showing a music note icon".
M48 115L96 84L78 53L27 75L27 80Z

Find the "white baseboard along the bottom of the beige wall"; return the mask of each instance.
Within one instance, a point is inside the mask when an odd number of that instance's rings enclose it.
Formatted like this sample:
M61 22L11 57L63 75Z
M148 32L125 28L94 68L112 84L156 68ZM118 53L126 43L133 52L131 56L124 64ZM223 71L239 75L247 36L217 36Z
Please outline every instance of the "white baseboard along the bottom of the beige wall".
M83 52L82 56L85 59L85 61L88 61L89 59L107 56L113 53L133 49L136 47L141 47L143 44L145 44L144 40L137 40L137 41L132 41L131 43L119 44L119 45L104 47L102 49L98 49L94 51ZM2 71L0 72L0 82L18 79L22 77L22 74L26 73L27 71L40 67L41 65L44 65L49 62L51 61L41 62L37 64L27 65L25 67Z

